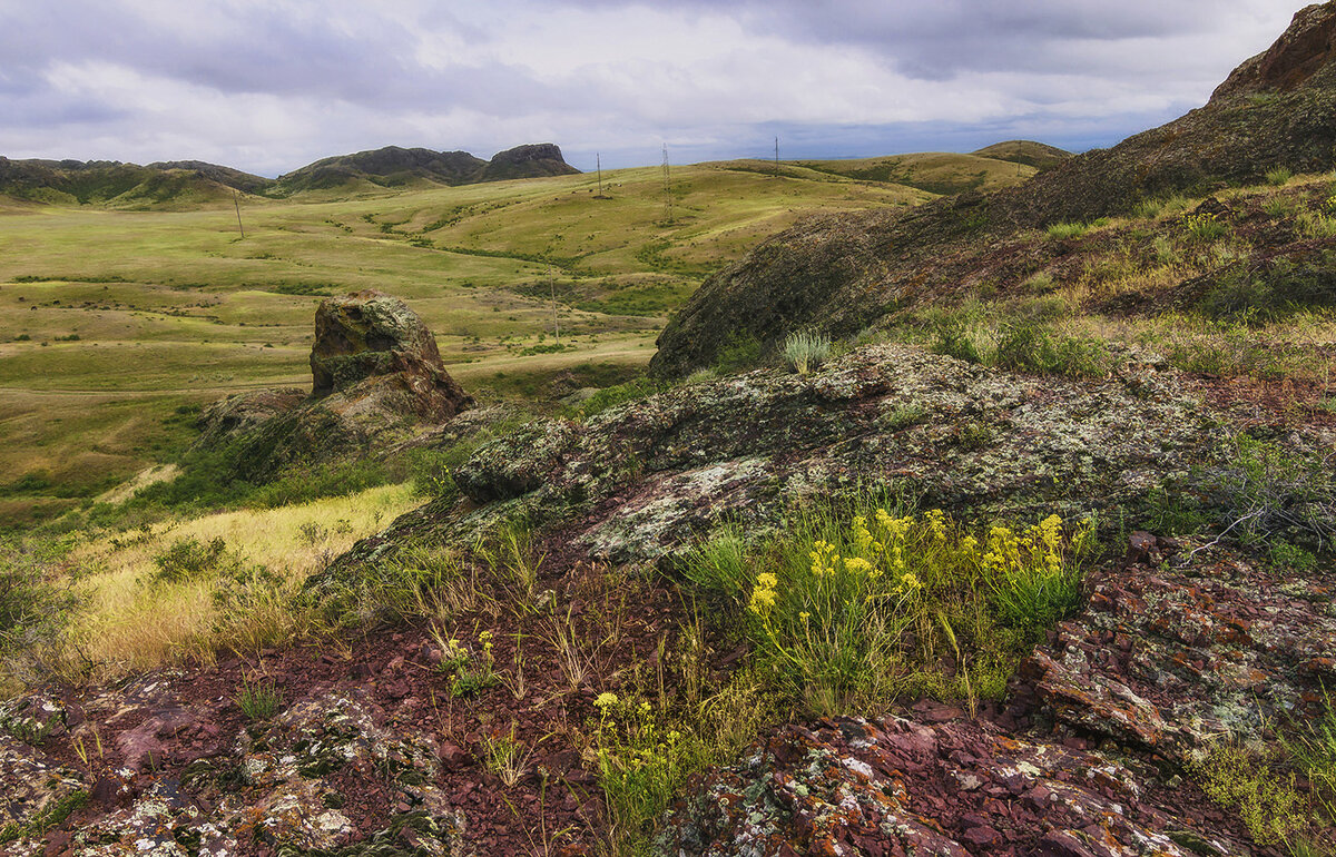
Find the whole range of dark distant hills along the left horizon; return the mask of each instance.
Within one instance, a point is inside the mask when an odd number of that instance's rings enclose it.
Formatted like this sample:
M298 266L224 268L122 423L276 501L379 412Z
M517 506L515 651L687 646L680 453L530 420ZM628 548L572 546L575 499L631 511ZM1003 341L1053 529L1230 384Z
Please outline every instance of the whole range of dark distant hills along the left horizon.
M311 191L343 194L577 172L552 143L517 146L498 152L492 160L468 152L387 146L323 158L278 179L202 160L162 160L139 166L119 160L9 160L0 156L0 196L64 206L166 208L226 202L234 191L263 196Z

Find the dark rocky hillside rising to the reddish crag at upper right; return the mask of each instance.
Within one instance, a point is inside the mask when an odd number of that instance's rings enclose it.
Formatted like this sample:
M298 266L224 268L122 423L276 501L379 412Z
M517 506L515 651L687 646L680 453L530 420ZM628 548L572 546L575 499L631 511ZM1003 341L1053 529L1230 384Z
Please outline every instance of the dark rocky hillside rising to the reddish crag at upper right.
M1202 108L1067 159L1021 187L904 212L816 218L776 235L692 295L660 335L652 368L688 374L737 336L774 346L802 327L851 335L922 296L958 294L963 279L1013 288L1042 268L1043 259L1017 252L1035 243L1026 238L1035 228L1122 215L1156 196L1260 182L1277 167L1331 170L1333 21L1336 3L1307 7ZM1009 256L1027 264L998 264Z

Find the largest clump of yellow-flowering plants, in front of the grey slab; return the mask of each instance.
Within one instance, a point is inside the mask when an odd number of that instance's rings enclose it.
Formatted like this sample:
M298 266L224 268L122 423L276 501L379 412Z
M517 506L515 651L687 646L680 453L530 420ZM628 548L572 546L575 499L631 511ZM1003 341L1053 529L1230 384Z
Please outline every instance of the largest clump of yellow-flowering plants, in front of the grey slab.
M1023 643L1075 606L1092 546L1089 523L1069 534L1057 517L977 538L939 510L892 515L864 501L803 511L751 551L725 533L684 574L731 602L758 675L810 713L834 714L914 686L971 702L981 685L1003 686ZM951 677L938 663L947 643L961 653Z

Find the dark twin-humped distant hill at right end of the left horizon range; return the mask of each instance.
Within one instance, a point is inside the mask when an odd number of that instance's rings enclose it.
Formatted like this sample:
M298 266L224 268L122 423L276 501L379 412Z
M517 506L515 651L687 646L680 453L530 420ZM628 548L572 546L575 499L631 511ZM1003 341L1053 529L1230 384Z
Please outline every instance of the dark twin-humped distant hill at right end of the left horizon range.
M505 179L570 175L580 172L561 158L552 143L517 146L492 160L469 152L434 152L428 148L387 146L354 155L325 158L278 178L270 194L290 196L303 191L345 187L410 187L422 184L476 184Z

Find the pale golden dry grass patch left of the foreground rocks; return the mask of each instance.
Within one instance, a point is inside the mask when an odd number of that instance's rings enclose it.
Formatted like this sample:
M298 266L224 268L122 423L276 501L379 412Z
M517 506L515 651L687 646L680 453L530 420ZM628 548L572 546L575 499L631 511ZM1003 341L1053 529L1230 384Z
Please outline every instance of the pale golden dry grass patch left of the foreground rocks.
M254 650L311 630L313 618L290 595L309 574L353 542L420 502L407 486L377 487L273 510L243 510L168 522L131 535L106 535L76 550L83 605L57 658L61 671L110 678L178 662L212 658L219 649ZM222 538L230 555L273 577L236 586L244 610L215 599L218 575L152 582L155 557L178 539Z

